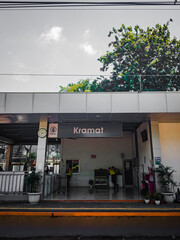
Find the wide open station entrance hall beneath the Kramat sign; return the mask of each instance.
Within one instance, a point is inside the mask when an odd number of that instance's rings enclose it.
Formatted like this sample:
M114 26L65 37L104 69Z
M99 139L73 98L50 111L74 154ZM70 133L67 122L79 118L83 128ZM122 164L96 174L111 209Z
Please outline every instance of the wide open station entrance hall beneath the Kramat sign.
M45 199L64 200L132 200L139 199L136 186L136 164L133 158L132 134L124 132L123 138L76 138L62 139L61 143L49 144L47 152L47 163L49 163L49 174L51 177L51 196L45 195ZM129 146L131 146L129 148ZM119 153L124 152L126 159L120 159ZM60 171L55 171L55 164L59 165ZM64 171L61 171L61 165ZM118 169L117 184L119 188L114 191L109 174L95 174L97 171L108 172L109 167ZM72 169L72 177L68 192L62 191L61 179L67 178L68 169ZM126 171L125 171L126 170ZM64 174L62 176L62 174ZM58 180L60 179L60 183ZM56 181L57 180L57 181ZM92 187L89 182L93 182ZM126 188L124 188L126 187ZM131 188L128 188L131 187Z

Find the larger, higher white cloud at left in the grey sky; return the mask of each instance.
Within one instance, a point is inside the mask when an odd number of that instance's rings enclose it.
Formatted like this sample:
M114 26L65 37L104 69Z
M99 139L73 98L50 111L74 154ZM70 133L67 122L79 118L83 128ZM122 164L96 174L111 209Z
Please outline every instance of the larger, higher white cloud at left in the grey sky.
M46 43L59 42L63 38L62 35L63 28L59 26L53 26L50 29L44 31L40 38Z

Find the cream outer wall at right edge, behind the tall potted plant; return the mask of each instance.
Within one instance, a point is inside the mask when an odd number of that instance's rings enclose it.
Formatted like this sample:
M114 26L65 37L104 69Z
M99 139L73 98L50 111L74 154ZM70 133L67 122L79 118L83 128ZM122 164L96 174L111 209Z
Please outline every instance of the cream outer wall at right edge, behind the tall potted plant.
M176 170L174 180L180 184L180 123L159 123L162 164Z

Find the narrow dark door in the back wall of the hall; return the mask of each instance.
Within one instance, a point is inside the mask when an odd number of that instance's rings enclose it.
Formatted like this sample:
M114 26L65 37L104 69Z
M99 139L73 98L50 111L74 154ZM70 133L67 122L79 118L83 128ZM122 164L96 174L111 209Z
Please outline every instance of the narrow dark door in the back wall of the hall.
M124 186L133 186L133 165L131 160L124 161Z

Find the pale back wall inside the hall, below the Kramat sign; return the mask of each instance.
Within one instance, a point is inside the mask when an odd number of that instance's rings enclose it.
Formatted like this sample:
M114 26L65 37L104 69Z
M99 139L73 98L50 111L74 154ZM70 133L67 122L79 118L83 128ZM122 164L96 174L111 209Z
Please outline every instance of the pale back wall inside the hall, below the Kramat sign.
M122 138L77 138L64 139L63 159L80 160L80 174L71 179L71 186L87 186L89 179L94 179L94 169L116 166L122 172L121 153L124 159L135 157L133 135L124 132ZM91 155L96 155L91 159Z

